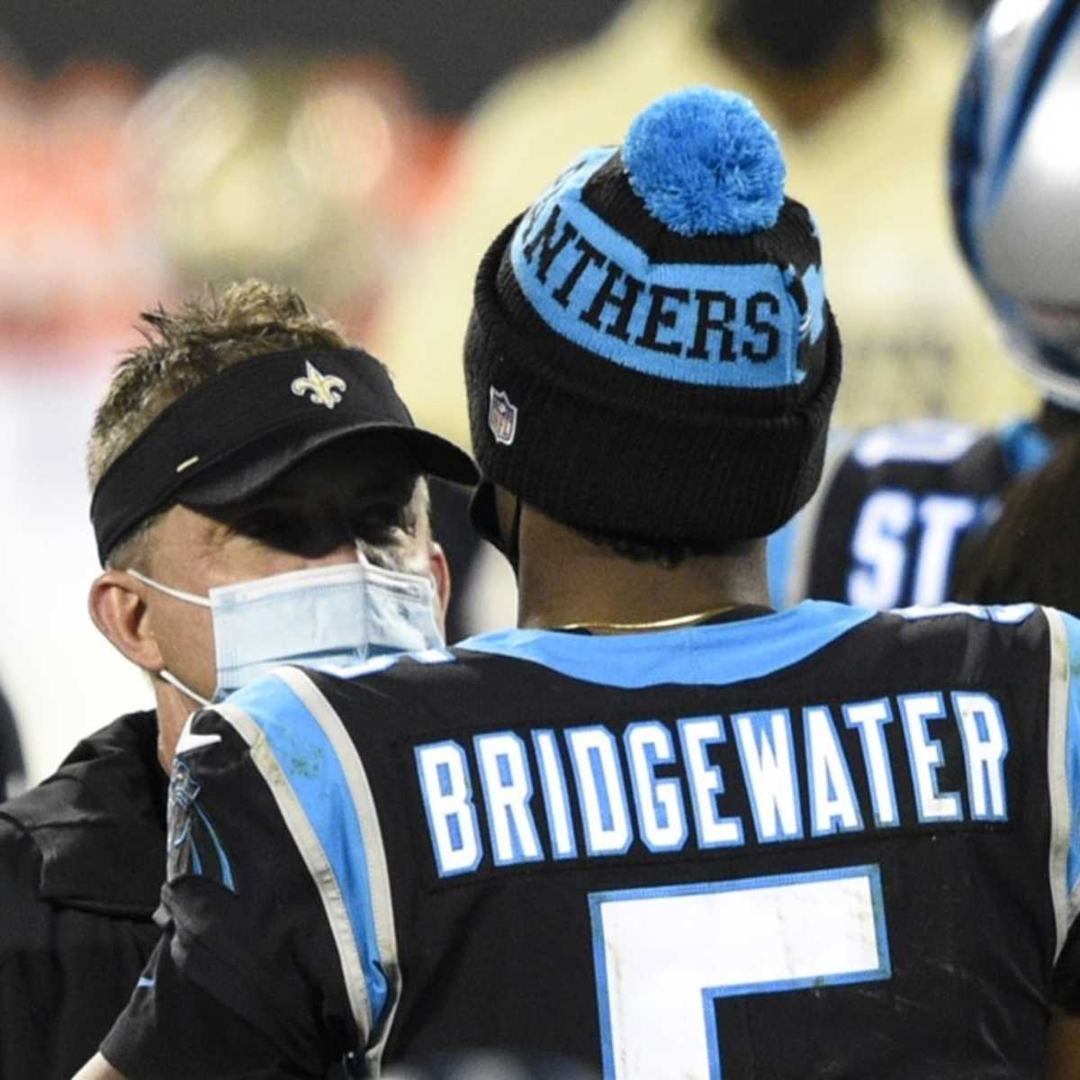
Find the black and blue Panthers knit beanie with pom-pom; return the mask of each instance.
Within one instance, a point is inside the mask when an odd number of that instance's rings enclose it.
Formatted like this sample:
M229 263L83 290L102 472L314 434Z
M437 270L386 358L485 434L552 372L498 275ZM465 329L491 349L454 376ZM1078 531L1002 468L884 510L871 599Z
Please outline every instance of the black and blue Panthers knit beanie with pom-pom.
M502 231L464 350L485 480L584 531L701 552L795 514L840 340L784 175L751 102L684 90Z

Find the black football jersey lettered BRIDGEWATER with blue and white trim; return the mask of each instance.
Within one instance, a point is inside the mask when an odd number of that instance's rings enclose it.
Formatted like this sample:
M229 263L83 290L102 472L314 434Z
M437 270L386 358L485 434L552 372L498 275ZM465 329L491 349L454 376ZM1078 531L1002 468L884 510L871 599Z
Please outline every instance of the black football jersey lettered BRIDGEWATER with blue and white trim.
M806 602L281 669L181 738L165 937L106 1055L214 1076L239 1027L267 1076L1039 1077L1078 999L1078 650L1030 605Z

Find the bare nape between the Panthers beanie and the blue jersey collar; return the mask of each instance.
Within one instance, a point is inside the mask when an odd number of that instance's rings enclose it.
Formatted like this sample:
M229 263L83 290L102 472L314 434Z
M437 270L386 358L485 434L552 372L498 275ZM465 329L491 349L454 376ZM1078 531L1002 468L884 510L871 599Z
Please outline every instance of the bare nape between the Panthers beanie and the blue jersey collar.
M647 629L747 604L769 604L764 540L666 568L617 555L542 514L523 519L519 626Z

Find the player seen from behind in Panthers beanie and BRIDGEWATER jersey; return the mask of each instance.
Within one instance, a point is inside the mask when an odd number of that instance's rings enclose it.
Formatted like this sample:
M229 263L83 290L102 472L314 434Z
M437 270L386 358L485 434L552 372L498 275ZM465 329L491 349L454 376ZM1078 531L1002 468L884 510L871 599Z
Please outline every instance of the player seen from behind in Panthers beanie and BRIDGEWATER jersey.
M1080 623L769 610L764 537L814 490L840 376L783 185L753 106L690 90L495 240L473 514L521 629L194 716L165 937L81 1080L229 1076L238 1045L245 1076L465 1047L1044 1075L1055 995L1080 1003Z

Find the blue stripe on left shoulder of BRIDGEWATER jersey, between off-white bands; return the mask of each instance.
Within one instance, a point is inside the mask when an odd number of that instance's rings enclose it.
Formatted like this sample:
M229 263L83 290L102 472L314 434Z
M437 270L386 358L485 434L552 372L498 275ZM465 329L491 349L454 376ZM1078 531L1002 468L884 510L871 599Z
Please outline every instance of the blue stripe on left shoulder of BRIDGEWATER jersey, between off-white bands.
M373 917L364 833L330 740L297 694L278 677L258 679L232 694L258 725L334 872L367 983L373 1030L383 1018L388 981ZM322 889L316 880L315 886Z

